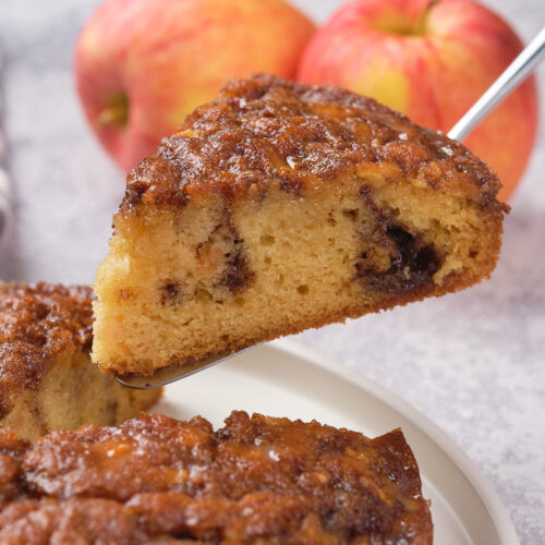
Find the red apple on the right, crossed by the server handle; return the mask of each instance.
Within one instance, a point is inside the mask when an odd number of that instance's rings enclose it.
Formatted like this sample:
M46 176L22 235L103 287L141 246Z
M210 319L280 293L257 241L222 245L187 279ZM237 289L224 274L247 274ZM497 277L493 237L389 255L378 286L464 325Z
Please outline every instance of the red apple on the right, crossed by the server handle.
M447 133L521 49L512 28L473 0L353 0L308 43L298 77L374 97ZM502 198L524 171L537 118L532 77L464 142L496 170Z

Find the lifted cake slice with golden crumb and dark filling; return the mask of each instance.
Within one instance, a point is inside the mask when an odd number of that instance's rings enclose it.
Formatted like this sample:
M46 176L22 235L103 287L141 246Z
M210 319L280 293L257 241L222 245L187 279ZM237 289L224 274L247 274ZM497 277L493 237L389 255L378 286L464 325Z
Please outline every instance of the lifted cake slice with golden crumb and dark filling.
M145 375L471 286L498 257L499 186L370 98L232 81L129 174L92 358Z

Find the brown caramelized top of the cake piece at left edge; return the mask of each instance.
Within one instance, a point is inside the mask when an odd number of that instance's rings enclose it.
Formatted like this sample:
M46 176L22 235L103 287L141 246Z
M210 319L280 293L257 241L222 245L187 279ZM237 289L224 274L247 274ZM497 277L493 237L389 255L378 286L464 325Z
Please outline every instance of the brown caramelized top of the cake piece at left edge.
M37 387L61 352L90 350L93 291L45 282L0 282L0 417L7 396Z

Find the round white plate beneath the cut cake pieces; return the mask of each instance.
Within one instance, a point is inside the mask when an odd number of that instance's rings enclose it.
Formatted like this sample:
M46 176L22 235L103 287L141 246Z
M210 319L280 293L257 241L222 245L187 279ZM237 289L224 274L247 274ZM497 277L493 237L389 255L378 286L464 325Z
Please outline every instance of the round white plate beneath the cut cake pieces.
M167 387L155 408L177 419L202 414L215 426L233 409L317 420L370 437L401 427L432 499L438 545L518 545L496 493L429 420L363 375L289 341L275 341Z

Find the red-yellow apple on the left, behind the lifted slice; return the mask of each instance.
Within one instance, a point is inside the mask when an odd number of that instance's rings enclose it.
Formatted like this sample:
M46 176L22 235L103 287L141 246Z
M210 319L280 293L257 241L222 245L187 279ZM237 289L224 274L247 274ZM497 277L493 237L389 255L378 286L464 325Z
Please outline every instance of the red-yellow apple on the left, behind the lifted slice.
M125 170L229 77L295 76L313 23L283 0L107 0L75 76L86 117Z

